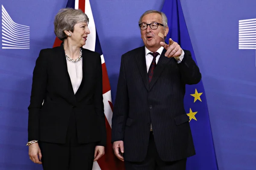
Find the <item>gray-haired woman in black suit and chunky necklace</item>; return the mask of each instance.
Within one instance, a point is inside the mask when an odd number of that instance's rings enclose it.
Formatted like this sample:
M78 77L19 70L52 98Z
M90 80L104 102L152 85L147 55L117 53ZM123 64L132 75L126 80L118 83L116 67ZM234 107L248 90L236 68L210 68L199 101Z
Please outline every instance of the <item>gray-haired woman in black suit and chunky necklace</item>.
M54 26L63 43L41 50L36 60L27 145L44 170L91 170L104 155L101 58L82 48L88 22L81 10L61 9Z

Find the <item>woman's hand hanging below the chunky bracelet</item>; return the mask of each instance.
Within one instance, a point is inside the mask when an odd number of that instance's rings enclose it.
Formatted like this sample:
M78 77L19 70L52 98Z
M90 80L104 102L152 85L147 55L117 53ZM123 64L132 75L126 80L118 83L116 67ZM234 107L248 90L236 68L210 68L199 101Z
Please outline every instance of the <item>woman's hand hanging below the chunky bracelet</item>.
M39 159L38 159L39 156ZM38 143L33 143L29 145L29 159L36 164L42 164L42 153L39 148Z

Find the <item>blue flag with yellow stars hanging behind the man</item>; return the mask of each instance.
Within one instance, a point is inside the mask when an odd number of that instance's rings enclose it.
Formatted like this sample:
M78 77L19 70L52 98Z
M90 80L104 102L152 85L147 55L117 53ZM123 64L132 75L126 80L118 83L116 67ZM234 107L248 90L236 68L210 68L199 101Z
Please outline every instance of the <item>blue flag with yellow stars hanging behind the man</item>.
M162 12L168 18L169 33L166 38L167 44L169 44L169 38L172 38L181 48L189 50L196 62L180 0L165 0ZM197 85L186 85L184 106L190 119L189 123L196 152L195 156L188 158L186 169L218 170L202 81Z

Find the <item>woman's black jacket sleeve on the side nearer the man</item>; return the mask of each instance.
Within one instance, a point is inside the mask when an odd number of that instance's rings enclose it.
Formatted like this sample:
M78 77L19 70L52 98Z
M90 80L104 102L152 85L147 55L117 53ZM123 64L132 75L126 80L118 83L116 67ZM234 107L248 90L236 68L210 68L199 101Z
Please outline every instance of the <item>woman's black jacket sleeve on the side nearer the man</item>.
M94 93L94 105L95 111L99 117L99 128L101 130L102 139L97 145L106 146L107 133L106 133L106 125L105 125L105 114L104 114L104 104L103 104L103 96L102 96L102 63L100 56L97 56L96 63L96 88Z

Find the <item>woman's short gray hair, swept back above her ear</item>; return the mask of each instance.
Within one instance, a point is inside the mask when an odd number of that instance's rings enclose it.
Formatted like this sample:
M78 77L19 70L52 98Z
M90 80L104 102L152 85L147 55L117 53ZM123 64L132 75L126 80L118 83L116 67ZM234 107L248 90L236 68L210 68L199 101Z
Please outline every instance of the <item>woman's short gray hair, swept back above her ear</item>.
M77 23L89 23L89 18L80 9L63 8L58 11L54 19L54 32L60 40L67 38L65 30L74 31L74 26Z

